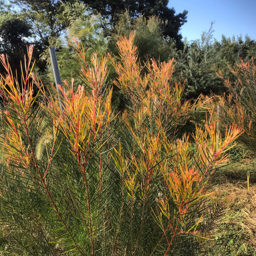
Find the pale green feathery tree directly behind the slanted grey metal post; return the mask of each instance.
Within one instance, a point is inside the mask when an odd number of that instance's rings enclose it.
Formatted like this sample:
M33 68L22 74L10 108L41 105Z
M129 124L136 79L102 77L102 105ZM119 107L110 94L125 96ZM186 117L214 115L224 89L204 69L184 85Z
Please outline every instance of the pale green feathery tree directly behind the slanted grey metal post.
M81 64L77 59L74 49L73 38L79 38L84 47L84 58L90 63L90 56L94 52L104 55L107 52L108 39L105 37L102 24L103 19L100 15L91 14L88 7L83 3L75 2L64 5L64 15L69 19L69 28L63 37L58 38L53 46L59 49L57 55L61 79L71 82L71 74L75 79L75 87L83 81L79 78ZM49 64L48 76L54 81L54 75L50 66L49 52L46 50L42 57Z

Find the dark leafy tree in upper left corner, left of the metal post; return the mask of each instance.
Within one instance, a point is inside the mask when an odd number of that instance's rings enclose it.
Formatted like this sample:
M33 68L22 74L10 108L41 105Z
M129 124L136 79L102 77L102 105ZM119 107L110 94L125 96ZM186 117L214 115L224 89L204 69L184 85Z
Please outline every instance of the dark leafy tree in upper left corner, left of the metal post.
M1 38L5 38L1 42L1 53L7 53L14 69L20 70L20 59L24 58L26 45L33 45L33 60L37 60L35 71L45 84L49 84L47 62L40 57L67 26L61 1L10 0L0 3L0 6L4 10L1 15ZM18 77L20 75L18 73Z

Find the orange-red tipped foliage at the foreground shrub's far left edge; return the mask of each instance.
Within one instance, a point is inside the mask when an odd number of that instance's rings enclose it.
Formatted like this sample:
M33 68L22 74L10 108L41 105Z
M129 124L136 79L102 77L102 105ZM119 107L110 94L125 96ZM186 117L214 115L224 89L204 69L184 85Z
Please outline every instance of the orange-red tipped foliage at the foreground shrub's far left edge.
M14 111L18 115L19 120L19 122L15 122L8 109L1 112L2 118L4 118L7 124L8 131L5 133L5 138L0 138L0 140L5 146L7 160L10 157L15 158L17 161L20 161L25 168L29 166L31 154L29 153L29 146L26 147L21 140L20 126L25 125L26 120L30 116L31 106L34 102L34 90L32 89L32 80L30 79L31 71L34 66L33 64L32 69L30 69L33 47L28 47L27 51L29 60L28 63L26 63L25 58L26 74L22 77L21 86L18 84L18 78L15 78L12 74L8 59L5 58L4 54L0 55L1 63L6 70L5 75L0 74L0 94L4 102L10 107L10 111ZM20 90L20 88L22 90ZM20 173L24 175L22 171L20 171Z

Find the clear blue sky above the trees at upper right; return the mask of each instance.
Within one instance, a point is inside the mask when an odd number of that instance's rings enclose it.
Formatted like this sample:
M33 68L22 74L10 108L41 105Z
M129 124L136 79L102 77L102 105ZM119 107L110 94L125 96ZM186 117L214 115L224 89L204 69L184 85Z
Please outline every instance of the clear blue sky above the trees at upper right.
M200 39L202 31L213 25L213 37L245 35L256 40L256 0L169 0L176 13L187 10L187 23L180 33L187 40Z

